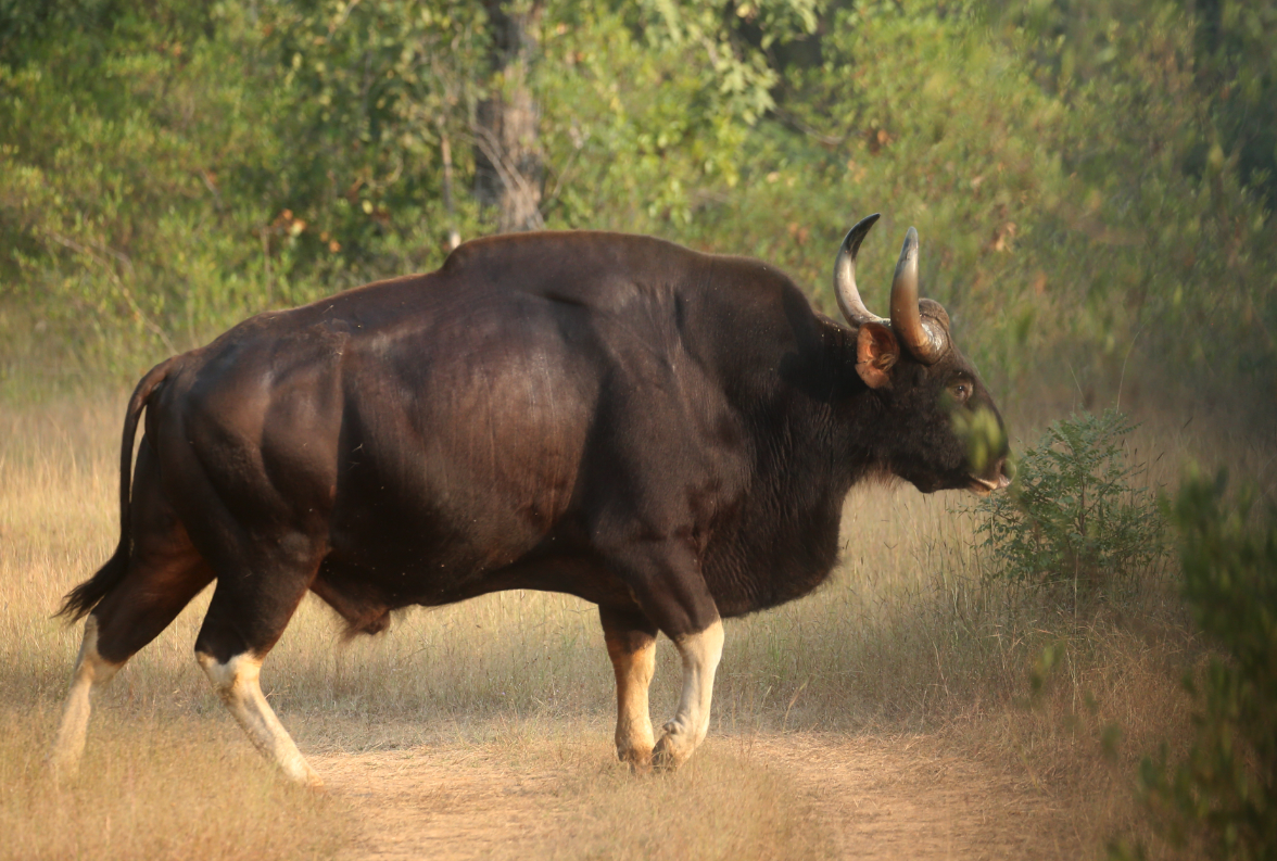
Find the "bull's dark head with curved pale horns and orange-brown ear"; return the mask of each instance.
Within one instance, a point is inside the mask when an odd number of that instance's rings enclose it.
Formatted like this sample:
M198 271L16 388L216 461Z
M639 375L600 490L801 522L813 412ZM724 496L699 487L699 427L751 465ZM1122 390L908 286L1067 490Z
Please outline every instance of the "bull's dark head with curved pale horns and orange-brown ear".
M834 264L838 307L857 330L856 372L891 425L890 470L925 493L1010 484L1006 433L974 365L953 342L940 303L918 299L918 231L909 227L891 282L891 318L856 287L856 253L877 213L847 234ZM903 345L903 349L902 349Z

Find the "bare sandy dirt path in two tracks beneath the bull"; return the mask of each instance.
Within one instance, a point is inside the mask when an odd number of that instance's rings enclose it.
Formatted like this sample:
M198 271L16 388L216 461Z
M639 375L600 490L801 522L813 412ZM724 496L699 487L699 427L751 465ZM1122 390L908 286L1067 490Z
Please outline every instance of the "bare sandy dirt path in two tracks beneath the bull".
M978 763L937 755L928 738L790 733L718 743L734 745L732 755L746 763L765 763L805 796L805 810L830 834L835 857L1074 858L1087 852L1065 811L1041 792ZM313 763L359 823L342 861L573 857L568 842L581 818L591 815L582 804L590 789L575 777L580 761L526 768L490 747L433 747L328 754ZM679 857L677 850L660 855Z

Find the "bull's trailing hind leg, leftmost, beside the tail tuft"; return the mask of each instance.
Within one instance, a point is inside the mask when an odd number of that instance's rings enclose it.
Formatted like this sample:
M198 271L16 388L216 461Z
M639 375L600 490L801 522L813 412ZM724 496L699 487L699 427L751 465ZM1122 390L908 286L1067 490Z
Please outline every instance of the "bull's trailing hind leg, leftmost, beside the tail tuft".
M84 621L84 637L49 760L65 777L75 774L84 752L92 695L169 627L213 577L160 493L146 443L138 453L137 475L128 567Z

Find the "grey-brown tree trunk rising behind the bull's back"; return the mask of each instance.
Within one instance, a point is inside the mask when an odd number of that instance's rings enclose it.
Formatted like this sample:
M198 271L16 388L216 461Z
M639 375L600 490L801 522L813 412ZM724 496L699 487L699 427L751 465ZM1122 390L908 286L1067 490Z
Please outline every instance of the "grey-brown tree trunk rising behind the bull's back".
M497 207L501 232L539 230L541 220L540 112L527 79L536 52L543 0L487 0L493 42L492 92L475 118L475 194Z

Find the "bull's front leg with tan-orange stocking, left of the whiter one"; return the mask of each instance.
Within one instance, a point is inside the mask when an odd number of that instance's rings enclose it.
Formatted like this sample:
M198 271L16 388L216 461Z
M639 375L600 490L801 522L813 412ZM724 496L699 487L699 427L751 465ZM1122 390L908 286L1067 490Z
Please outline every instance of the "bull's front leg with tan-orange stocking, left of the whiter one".
M617 674L617 758L635 773L651 770L647 689L656 672L656 626L638 612L600 607L603 639Z

